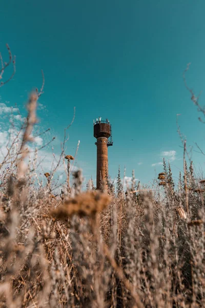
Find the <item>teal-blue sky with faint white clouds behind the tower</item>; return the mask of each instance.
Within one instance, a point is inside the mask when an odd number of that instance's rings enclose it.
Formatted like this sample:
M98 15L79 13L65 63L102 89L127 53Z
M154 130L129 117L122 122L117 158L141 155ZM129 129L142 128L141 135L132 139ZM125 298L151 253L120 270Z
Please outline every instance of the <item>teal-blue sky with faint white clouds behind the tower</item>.
M202 91L203 105L204 10L203 0L3 0L0 50L6 61L5 44L10 45L16 74L1 88L2 103L17 104L24 114L28 92L40 87L43 69L39 125L51 128L57 153L76 108L67 153L73 155L80 140L76 164L87 178L95 178L93 119L98 116L112 123L112 178L118 165L126 165L127 176L135 169L146 183L161 171L162 156L177 177L182 169L177 113L188 147L197 142L205 151L204 124L182 79L191 62L187 82L196 94ZM198 171L204 157L195 149Z

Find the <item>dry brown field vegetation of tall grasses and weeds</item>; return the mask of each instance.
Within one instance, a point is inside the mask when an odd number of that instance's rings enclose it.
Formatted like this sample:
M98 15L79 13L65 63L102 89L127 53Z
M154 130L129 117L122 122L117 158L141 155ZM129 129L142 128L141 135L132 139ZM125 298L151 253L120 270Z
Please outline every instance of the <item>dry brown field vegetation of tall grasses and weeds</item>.
M67 159L67 186L55 196L59 163L43 185L37 152L29 159L42 92L31 93L22 137L0 165L0 306L205 306L204 180L194 176L192 162L184 156L178 185L164 161L151 188L135 187L133 175L125 194L119 173L116 191L109 179L101 191L92 180L82 191L65 137L59 160Z

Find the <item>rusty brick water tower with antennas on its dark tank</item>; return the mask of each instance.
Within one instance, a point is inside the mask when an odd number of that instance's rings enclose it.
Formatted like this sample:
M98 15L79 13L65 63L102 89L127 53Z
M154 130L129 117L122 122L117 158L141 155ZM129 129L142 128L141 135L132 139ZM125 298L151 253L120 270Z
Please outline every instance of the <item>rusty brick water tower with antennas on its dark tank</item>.
M97 146L97 177L96 186L100 188L100 178L105 180L106 172L108 172L108 147L113 145L112 142L112 126L108 119L101 121L101 118L93 120L94 137Z

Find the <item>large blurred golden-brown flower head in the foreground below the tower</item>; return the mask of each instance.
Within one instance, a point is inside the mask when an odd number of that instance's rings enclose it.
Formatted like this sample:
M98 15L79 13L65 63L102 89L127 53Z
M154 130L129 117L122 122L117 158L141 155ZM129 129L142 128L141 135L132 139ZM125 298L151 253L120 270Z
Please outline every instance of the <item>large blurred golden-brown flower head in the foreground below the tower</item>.
M71 198L51 211L51 216L64 220L74 214L93 217L110 203L110 197L100 191L87 191Z

